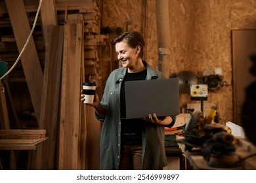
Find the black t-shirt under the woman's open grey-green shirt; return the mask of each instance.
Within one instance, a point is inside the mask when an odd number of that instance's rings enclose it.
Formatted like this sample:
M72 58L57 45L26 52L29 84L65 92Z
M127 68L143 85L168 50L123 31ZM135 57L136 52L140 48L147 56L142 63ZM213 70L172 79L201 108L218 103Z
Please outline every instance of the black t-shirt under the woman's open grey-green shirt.
M121 102L121 118L126 116L125 110L125 81L145 80L146 69L139 73L126 73L121 84L120 102ZM141 144L142 141L142 124L141 119L121 119L121 142L123 144Z

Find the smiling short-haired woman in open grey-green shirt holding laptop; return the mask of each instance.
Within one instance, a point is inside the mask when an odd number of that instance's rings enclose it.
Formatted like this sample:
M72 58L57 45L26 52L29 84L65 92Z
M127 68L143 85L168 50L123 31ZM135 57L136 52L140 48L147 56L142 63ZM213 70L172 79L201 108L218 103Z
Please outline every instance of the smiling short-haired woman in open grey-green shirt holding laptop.
M100 169L163 169L167 165L164 127L175 123L175 116L123 120L125 81L164 78L142 60L144 38L137 31L116 37L117 59L122 67L110 73L102 100L93 103L95 116L103 122L100 135ZM83 100L83 95L81 95Z

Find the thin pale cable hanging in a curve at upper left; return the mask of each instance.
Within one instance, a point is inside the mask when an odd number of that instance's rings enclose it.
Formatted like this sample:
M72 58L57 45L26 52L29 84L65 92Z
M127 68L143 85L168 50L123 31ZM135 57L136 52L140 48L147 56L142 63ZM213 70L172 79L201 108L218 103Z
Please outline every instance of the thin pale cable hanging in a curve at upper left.
M39 15L39 11L40 11L40 8L41 8L41 5L42 5L42 2L43 0L40 0L39 2L39 5L38 5L38 8L37 8L37 13L35 14L35 20L33 22L33 26L32 26L32 29L30 31L30 34L28 35L28 39L26 41L26 43L24 44L18 58L16 59L16 61L14 62L14 64L12 65L11 69L9 69L9 71L7 71L7 73L5 73L5 75L1 76L0 80L2 80L3 78L5 78L5 76L9 75L9 73L11 73L11 71L14 69L14 67L17 65L18 61L20 60L20 57L22 56L26 46L28 45L28 42L30 41L30 38L32 37L32 33L33 33L33 30L35 29L35 24L37 23L37 18L38 18L38 15Z

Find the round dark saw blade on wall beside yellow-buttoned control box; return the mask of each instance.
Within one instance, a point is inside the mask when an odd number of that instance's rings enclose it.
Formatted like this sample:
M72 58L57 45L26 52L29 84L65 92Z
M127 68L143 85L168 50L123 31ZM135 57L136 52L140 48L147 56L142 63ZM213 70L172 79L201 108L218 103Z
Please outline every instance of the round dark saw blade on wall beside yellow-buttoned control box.
M181 93L190 93L190 84L198 84L198 77L190 71L182 71L177 78Z

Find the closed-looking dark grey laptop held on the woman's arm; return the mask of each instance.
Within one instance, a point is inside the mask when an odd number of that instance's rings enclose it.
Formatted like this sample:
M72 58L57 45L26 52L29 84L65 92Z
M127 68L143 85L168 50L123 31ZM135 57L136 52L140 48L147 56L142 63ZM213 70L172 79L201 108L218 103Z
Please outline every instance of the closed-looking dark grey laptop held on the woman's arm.
M179 79L137 80L125 82L126 119L147 118L148 114L178 115Z

